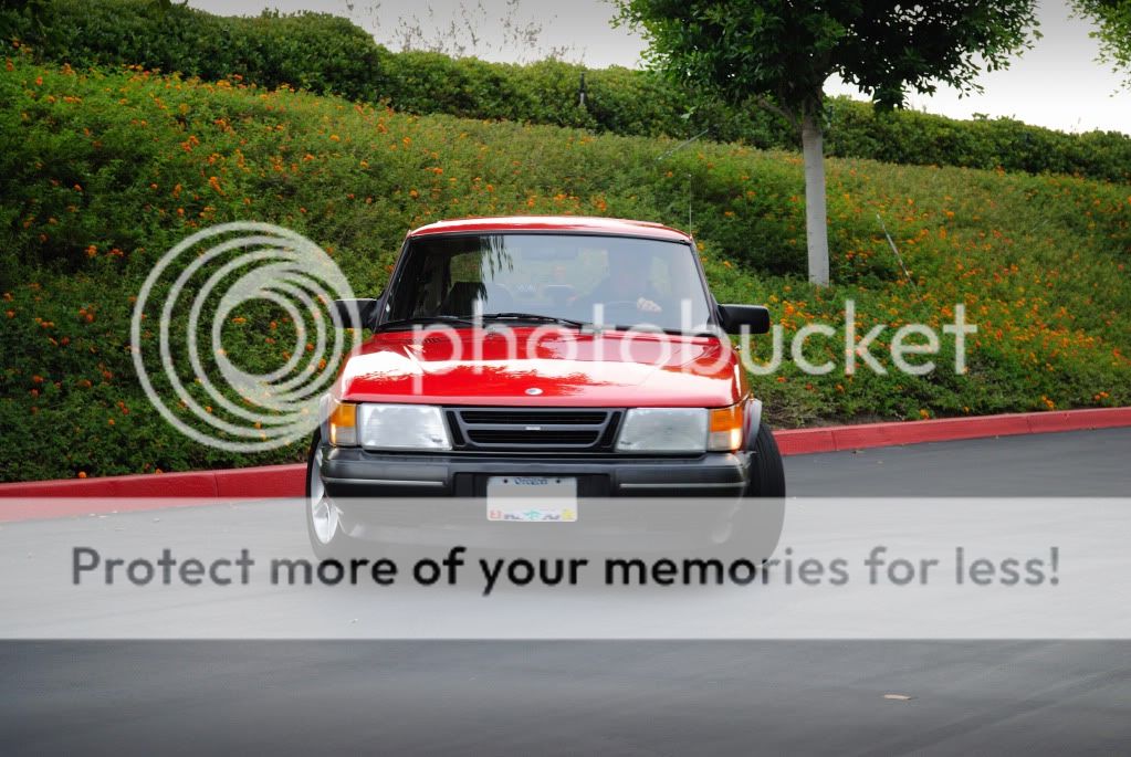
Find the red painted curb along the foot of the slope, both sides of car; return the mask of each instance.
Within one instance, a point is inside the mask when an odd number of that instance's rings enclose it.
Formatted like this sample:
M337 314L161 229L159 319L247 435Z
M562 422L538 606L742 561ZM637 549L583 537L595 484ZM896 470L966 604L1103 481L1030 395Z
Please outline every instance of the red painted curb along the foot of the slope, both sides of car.
M1117 426L1131 426L1131 408L1017 412L974 418L796 428L775 432L774 437L782 454L795 455ZM305 475L305 465L299 463L183 473L0 484L0 499L28 499L28 502L3 503L0 507L0 522L86 515L95 510L105 513L155 510L158 506L174 507L181 504L215 504L217 498L297 497L302 495ZM80 499L67 503L35 502L49 497L112 499L112 502L97 502L92 505L84 505ZM163 502L152 502L156 498L162 498ZM176 499L181 502L178 503Z

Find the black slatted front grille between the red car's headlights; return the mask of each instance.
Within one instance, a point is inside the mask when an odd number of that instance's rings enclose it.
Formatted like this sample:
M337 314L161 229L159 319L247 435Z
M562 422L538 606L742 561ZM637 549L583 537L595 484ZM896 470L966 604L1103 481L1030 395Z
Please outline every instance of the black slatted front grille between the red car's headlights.
M621 411L450 408L444 416L456 450L607 452Z

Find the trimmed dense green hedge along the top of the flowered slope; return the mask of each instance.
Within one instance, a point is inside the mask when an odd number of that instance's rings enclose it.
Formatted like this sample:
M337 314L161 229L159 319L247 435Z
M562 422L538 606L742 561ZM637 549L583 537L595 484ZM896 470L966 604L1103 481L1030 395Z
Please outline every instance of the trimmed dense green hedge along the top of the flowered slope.
M797 148L788 124L750 105L727 107L655 73L529 66L392 53L344 18L304 12L226 18L154 0L36 0L0 10L0 37L28 42L43 58L77 67L136 64L206 80L239 75L409 113L577 127L625 136ZM586 106L579 105L582 75ZM910 111L875 113L845 97L828 102L826 151L890 163L1079 174L1128 182L1131 138L1030 127L1010 119L957 121Z

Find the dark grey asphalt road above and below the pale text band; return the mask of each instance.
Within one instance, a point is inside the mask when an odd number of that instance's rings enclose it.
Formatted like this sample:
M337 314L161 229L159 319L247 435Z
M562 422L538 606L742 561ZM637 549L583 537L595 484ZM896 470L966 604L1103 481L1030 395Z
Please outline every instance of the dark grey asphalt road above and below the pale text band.
M793 495L1125 496L1129 461L1131 429L1112 429L786 467ZM1131 642L0 644L5 755L1126 754L1129 745Z

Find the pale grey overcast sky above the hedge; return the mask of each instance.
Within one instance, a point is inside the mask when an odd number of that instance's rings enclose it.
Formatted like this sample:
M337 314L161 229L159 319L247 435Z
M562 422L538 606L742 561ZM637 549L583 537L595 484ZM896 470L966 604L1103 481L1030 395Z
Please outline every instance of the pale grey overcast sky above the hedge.
M449 51L461 45L465 54L494 61L527 62L556 52L596 68L639 68L646 47L632 29L611 25L614 8L607 0L189 0L189 5L223 15L254 15L264 8L320 10L351 18L392 50L403 47L407 32L416 46L440 40ZM1009 69L983 73L983 94L960 97L940 88L932 96L913 95L909 106L956 119L985 114L1069 132L1100 129L1131 134L1131 92L1120 90L1122 77L1096 62L1098 46L1088 36L1091 25L1070 18L1061 0L1039 3L1038 17L1044 37ZM530 34L508 34L508 21L511 29ZM863 97L837 80L830 80L826 90Z

